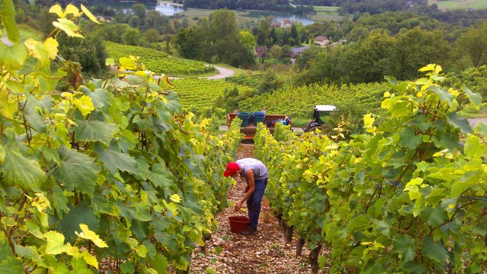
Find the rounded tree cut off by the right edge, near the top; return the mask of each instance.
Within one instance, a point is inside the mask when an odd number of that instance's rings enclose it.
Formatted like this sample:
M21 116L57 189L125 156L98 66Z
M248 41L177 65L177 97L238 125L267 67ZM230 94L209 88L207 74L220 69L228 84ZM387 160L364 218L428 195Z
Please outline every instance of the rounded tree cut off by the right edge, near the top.
M487 64L487 22L470 27L467 33L457 41L458 47L470 58L472 65L478 68Z

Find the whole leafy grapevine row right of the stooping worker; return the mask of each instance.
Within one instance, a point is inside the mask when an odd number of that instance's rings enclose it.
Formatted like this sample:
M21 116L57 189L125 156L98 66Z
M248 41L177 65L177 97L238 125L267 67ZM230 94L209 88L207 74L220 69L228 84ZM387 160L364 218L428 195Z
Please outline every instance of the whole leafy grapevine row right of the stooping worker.
M385 117L366 114L367 133L349 141L276 133L277 141L258 128L271 207L308 242L314 272L325 264L332 273L487 268L487 127L472 132L456 113L459 102L478 107L482 98L443 87L440 66L420 72L414 82L387 78ZM318 258L322 246L329 253Z

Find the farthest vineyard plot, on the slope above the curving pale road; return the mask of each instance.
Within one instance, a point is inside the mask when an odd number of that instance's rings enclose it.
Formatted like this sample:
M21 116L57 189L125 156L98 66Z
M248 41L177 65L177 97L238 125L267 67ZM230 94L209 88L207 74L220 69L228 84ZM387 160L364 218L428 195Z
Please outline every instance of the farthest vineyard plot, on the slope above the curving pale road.
M138 56L139 63L155 73L174 75L198 75L215 70L214 67L205 66L205 63L194 60L181 59L169 56L163 52L149 48L118 44L110 41L103 42L108 55L115 60L129 55Z

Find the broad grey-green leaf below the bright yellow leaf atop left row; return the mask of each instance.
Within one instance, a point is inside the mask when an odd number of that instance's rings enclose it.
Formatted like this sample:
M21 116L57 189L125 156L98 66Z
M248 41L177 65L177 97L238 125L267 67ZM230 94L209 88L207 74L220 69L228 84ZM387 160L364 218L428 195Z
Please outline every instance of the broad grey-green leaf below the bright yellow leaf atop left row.
M110 144L113 134L117 130L114 124L104 123L101 121L85 121L84 119L75 119L76 142L95 142L100 141L105 145Z

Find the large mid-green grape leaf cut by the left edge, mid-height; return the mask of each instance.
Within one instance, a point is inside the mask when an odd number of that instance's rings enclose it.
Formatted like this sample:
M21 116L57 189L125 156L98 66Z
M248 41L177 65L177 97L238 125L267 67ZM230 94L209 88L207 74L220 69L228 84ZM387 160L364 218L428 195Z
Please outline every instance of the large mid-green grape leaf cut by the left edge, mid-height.
M5 152L0 171L6 185L37 189L44 182L46 174L37 161L25 158L16 146L6 146Z

